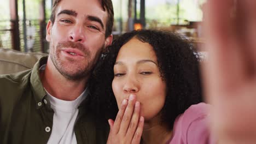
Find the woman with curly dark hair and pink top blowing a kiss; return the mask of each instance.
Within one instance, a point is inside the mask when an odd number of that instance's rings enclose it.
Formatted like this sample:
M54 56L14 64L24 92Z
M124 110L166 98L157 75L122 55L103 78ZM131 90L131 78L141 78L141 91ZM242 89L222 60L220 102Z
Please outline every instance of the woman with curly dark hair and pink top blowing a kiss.
M104 53L94 79L92 95L110 118L108 141L210 143L207 105L200 103L199 55L177 34L121 35Z

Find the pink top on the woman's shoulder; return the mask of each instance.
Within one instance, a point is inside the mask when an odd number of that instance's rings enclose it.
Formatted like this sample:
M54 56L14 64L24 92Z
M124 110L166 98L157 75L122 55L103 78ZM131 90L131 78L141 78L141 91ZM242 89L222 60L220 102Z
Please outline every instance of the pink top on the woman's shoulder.
M209 106L205 103L191 105L184 113L179 115L173 125L172 138L167 143L213 143L210 130L207 127Z

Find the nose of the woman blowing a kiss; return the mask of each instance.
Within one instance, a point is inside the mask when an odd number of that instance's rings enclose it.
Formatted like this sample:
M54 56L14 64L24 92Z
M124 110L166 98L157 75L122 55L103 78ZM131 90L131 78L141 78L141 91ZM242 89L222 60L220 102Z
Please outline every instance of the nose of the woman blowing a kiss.
M135 77L129 77L124 85L123 90L126 93L136 93L139 91L139 82Z

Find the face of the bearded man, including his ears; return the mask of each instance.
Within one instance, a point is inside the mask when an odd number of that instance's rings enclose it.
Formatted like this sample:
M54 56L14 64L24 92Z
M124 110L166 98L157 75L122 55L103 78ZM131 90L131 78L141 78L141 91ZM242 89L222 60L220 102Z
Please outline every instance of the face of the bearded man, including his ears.
M107 11L98 0L62 0L56 8L55 22L48 22L46 40L50 59L66 79L87 77L104 47Z

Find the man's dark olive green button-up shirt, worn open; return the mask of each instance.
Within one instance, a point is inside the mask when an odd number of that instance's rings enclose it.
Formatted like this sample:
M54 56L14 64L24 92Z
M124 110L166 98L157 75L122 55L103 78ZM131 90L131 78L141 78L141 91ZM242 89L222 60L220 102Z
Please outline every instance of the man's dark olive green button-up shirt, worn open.
M47 143L53 127L54 111L46 99L39 78L41 58L32 70L0 76L0 143ZM91 95L78 107L74 126L77 143L106 143L107 122L97 119L90 105Z

